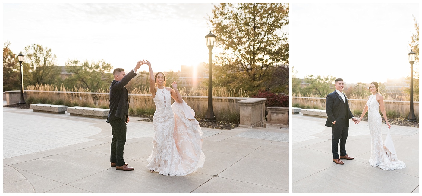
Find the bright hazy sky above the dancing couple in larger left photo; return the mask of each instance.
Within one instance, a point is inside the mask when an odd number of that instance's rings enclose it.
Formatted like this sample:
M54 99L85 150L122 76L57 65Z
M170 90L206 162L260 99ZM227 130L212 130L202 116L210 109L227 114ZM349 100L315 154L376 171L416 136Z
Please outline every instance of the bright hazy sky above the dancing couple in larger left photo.
M154 72L177 71L208 62L206 18L212 8L211 3L5 3L3 42L11 42L14 53L32 44L51 48L60 66L68 58L104 59L130 70L147 59Z

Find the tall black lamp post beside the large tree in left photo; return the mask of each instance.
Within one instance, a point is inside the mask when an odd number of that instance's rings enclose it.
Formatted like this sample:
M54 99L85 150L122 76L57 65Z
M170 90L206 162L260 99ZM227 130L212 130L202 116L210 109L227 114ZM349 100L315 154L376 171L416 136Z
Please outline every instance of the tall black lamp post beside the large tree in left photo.
M214 110L212 109L212 62L211 62L211 50L214 47L214 40L215 40L215 35L211 33L208 33L205 36L205 40L207 42L207 47L208 50L210 50L209 52L209 64L208 64L208 110L207 110L207 114L205 115L205 121L206 122L216 122L215 119L215 115L214 115Z

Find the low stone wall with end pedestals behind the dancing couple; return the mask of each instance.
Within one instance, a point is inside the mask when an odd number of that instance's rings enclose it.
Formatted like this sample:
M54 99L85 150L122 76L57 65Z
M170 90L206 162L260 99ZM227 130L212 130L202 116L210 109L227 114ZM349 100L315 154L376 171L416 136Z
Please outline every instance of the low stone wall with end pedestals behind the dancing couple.
M20 91L6 91L8 104L18 103ZM108 93L79 93L61 91L38 91L25 90L24 97L48 97L52 100L77 99L92 102L95 105L107 105ZM195 111L196 114L202 112L205 116L208 107L208 96L182 96L183 100ZM238 98L238 97L213 97L214 114L227 114L240 116L240 124L243 127L265 127L265 98ZM242 102L243 101L243 102ZM155 108L152 95L129 94L129 107L151 107ZM243 109L241 109L241 107ZM202 116L202 115L200 115ZM217 117L218 118L218 117Z

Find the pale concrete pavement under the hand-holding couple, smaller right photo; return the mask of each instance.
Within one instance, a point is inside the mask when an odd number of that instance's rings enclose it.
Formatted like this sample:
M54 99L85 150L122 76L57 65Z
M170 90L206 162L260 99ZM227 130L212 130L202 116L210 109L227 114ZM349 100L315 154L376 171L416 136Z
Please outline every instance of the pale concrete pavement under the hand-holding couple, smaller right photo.
M349 127L346 150L353 160L332 162L332 130L325 118L292 114L292 193L419 193L419 128L391 125L398 159L406 168L387 171L368 163L368 122ZM388 127L383 124L383 138Z

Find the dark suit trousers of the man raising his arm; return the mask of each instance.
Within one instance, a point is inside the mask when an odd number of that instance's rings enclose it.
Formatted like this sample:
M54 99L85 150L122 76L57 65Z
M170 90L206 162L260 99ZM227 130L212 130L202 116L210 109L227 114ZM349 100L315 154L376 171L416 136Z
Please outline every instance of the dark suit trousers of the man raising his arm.
M109 122L111 125L111 153L110 162L116 163L116 166L126 164L123 160L123 148L126 143L126 121L124 119L116 119Z

